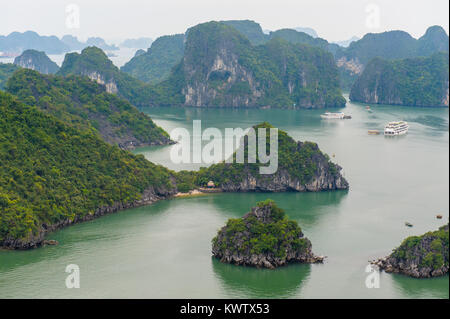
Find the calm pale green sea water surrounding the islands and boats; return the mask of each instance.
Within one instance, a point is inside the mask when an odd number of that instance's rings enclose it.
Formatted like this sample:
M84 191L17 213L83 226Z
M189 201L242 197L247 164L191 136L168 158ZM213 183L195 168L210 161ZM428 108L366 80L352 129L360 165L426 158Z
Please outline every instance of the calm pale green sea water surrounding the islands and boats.
M351 188L180 198L78 224L49 236L58 246L0 251L0 298L448 298L448 276L381 273L380 287L366 288L369 259L389 254L407 236L437 229L449 211L448 109L372 109L348 103L344 112L353 119L345 121L321 120L323 110L145 109L167 131L192 130L194 119L221 130L269 121L334 154ZM407 136L367 134L398 119L410 123ZM172 169L198 168L171 163L171 147L136 152ZM211 239L226 220L266 198L299 222L314 252L328 256L324 264L264 270L211 258ZM68 264L80 267L80 289L65 287Z

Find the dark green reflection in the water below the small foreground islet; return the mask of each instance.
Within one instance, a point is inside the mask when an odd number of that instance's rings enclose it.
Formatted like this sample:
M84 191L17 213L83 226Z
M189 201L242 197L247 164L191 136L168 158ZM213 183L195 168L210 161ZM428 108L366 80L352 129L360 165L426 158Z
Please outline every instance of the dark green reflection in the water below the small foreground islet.
M257 269L224 264L211 258L221 286L239 298L292 298L298 295L311 273L309 264L292 264L277 269Z

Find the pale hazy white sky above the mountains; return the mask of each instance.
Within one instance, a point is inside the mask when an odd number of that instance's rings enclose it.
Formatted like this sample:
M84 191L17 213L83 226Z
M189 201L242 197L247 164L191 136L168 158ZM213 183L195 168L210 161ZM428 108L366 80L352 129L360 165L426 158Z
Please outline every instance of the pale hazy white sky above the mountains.
M255 20L269 30L311 27L329 41L396 29L419 37L430 25L441 25L447 33L449 28L448 0L0 1L0 35L33 30L83 40L101 36L112 42L183 33L201 22L231 19ZM79 8L79 28L77 9L70 4Z

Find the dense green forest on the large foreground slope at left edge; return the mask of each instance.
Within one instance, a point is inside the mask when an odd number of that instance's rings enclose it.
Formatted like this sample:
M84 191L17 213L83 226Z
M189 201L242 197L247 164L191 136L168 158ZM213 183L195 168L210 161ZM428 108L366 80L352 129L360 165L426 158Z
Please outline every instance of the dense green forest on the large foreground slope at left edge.
M171 172L0 92L0 245L171 189Z

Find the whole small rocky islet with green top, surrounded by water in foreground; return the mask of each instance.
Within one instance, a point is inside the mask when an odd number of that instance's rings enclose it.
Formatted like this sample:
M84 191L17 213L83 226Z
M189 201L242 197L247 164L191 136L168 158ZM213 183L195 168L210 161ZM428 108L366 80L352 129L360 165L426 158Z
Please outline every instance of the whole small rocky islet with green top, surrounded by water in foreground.
M268 199L242 218L229 219L212 240L212 254L223 263L274 269L288 263L321 263L296 221Z

